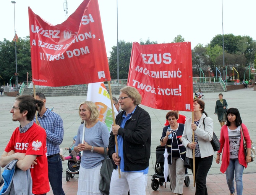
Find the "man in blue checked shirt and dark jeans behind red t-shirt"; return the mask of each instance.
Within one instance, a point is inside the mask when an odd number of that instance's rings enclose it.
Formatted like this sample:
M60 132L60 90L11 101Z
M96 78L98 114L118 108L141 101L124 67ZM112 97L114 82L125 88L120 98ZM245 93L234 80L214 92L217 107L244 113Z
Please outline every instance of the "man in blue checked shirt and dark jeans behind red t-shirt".
M38 112L37 124L42 126L46 132L46 146L48 158L48 177L54 195L65 195L62 189L62 160L60 158L60 144L63 141L64 128L60 115L45 107L45 95L36 93L36 99L42 100L44 106ZM36 122L36 118L34 118Z

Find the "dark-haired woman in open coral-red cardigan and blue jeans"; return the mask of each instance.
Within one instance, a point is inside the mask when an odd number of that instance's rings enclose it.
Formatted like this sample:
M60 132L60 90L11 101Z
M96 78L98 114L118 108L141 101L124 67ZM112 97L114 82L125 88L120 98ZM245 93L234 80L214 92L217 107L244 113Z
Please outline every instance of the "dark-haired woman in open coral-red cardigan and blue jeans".
M226 179L230 195L235 194L234 176L236 182L237 195L243 193L243 169L247 167L247 163L251 161L251 140L248 129L240 117L240 113L236 108L230 108L226 115L227 124L222 126L220 131L220 150L217 152L216 163L220 163L220 154L223 149L222 164L220 171L226 171ZM247 156L245 158L243 147L243 136L240 125L243 129L245 141L247 144Z

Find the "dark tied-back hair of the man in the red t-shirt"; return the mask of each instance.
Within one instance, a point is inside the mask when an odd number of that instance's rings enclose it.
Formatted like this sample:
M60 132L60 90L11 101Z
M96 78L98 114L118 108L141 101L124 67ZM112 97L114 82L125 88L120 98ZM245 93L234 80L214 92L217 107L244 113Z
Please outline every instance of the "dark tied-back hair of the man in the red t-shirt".
M22 113L25 110L28 111L26 117L28 121L32 121L34 119L34 116L36 114L37 110L41 110L44 102L41 100L36 100L30 95L22 95L16 98L16 101L18 101L19 105L19 112Z

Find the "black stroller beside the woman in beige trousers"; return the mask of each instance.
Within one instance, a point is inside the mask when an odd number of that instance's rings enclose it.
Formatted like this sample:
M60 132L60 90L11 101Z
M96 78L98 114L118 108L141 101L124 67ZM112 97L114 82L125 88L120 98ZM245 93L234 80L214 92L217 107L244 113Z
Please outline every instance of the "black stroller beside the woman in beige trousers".
M151 179L152 190L157 190L159 185L164 184L164 150L165 146L158 145L156 147L156 164L155 164L155 174ZM158 180L156 178L159 178ZM170 181L169 176L167 177L167 182ZM188 187L190 185L190 178L185 176L185 185ZM170 185L171 188L171 185Z

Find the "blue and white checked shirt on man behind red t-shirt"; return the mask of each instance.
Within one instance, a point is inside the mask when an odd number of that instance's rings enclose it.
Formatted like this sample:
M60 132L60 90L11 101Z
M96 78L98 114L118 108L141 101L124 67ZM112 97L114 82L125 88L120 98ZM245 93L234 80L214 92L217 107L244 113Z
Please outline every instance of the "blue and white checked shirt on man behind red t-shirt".
M44 128L46 132L47 156L60 153L60 144L64 136L62 118L48 108L42 117L40 117L39 113L37 117L41 127ZM36 121L36 117L34 121Z

